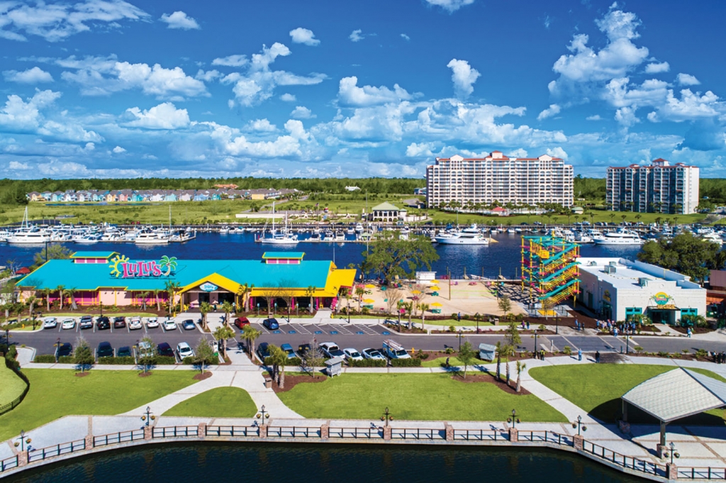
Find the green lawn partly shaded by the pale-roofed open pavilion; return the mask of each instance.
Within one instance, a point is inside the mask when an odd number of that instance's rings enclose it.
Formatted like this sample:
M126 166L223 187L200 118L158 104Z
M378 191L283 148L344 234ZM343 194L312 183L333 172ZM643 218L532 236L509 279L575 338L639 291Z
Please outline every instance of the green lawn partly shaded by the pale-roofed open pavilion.
M641 382L672 370L673 366L587 364L538 367L531 369L529 373L534 379L587 410L595 418L611 422L621 415L622 395ZM711 371L703 369L693 371L724 381L722 377ZM709 412L719 417L723 416L722 413L720 410Z

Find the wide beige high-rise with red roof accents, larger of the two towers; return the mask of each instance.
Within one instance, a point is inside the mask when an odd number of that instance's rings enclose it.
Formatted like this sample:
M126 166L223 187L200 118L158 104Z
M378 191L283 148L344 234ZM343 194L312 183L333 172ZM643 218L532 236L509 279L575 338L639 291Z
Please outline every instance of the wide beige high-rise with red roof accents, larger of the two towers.
M564 160L507 157L494 151L483 158L458 154L436 158L426 168L426 202L430 207L457 201L472 203L557 203L572 206L573 170Z

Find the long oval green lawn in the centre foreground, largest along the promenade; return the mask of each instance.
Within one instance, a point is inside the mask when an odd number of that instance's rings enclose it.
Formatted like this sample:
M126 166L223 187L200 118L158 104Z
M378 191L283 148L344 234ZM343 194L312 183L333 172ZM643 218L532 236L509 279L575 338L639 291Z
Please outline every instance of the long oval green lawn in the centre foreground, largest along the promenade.
M533 395L511 395L494 384L465 384L448 374L343 374L297 384L278 394L307 418L378 419L388 406L394 418L428 421L505 421L515 408L523 421L567 421Z

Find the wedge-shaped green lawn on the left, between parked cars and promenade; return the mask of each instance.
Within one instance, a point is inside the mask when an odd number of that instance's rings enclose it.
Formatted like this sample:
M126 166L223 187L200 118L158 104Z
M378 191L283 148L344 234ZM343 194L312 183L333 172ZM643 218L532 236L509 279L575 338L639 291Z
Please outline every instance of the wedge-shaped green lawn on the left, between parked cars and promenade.
M23 402L0 416L0 441L71 414L125 413L195 383L193 371L155 371L139 377L136 371L73 371L25 369L30 390Z

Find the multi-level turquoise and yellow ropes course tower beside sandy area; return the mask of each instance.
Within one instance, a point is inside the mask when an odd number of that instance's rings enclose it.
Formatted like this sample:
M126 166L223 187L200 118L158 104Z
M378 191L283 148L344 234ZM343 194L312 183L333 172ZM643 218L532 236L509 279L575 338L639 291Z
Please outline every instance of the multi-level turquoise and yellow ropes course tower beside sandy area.
M522 289L553 305L579 293L579 245L554 236L522 236Z

